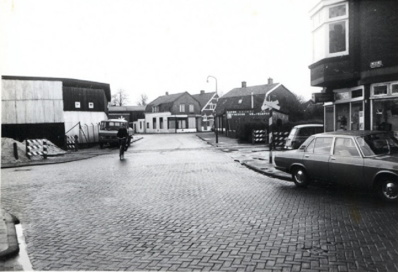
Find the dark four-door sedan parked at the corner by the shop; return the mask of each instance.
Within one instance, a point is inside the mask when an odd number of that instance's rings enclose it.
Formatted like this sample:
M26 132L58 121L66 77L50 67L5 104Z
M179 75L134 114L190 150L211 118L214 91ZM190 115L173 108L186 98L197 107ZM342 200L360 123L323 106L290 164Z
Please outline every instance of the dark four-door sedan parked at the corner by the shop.
M299 187L311 181L365 187L398 200L398 139L381 131L341 131L308 137L297 150L275 155L276 168Z

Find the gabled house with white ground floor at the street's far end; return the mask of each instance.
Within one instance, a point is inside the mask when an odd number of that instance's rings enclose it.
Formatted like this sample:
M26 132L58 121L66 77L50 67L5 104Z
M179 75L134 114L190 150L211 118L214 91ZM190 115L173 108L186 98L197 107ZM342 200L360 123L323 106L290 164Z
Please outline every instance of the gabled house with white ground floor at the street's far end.
M166 92L146 106L144 133L197 132L200 110L199 101L188 92Z

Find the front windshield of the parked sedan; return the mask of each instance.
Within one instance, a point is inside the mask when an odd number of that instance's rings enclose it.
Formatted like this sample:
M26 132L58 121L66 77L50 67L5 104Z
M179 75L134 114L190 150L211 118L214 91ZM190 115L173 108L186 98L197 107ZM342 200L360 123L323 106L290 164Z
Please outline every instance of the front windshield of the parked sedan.
M391 154L398 152L398 140L388 133L371 134L357 138L364 156Z

